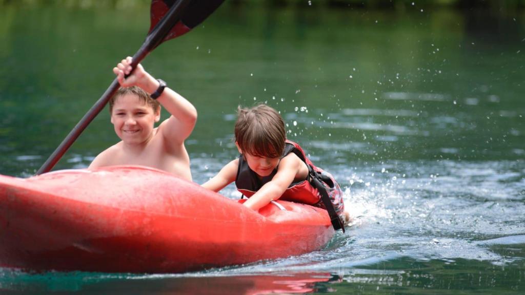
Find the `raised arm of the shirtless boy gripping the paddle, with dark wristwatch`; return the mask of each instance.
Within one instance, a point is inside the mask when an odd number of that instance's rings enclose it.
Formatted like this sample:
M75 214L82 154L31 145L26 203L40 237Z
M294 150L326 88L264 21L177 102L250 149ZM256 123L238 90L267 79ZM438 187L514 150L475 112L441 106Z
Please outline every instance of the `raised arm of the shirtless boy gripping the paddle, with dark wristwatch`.
M148 72L144 70L142 65L137 65L133 74L128 78L131 72L131 57L123 59L117 67L113 68L113 72L117 75L117 79L122 87L130 87L137 85L148 93L153 93L159 87L159 81L155 80ZM169 87L164 88L161 96L157 99L162 106L172 115L169 119L162 122L159 130L167 139L168 143L180 145L184 140L190 136L195 122L197 121L197 110L193 104L187 101L177 92Z

